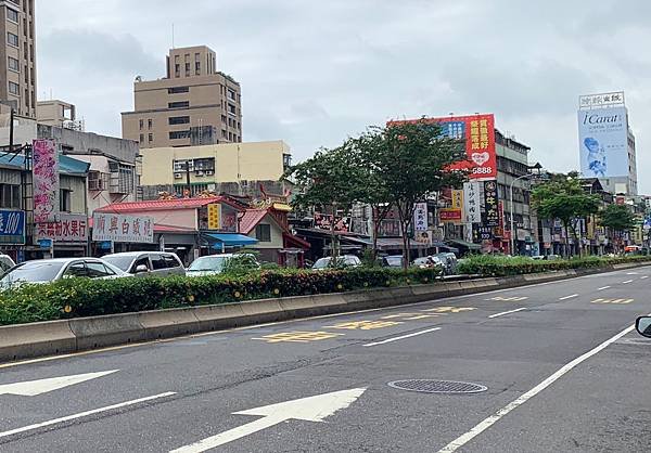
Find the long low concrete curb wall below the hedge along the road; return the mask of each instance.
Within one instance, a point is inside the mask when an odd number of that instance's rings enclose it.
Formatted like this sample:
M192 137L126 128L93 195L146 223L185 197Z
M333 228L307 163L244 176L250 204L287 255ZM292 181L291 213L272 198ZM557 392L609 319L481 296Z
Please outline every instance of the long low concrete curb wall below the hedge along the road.
M244 325L424 302L494 289L561 281L649 266L547 272L508 277L459 280L350 293L285 297L139 313L76 318L0 327L0 362L170 338Z

